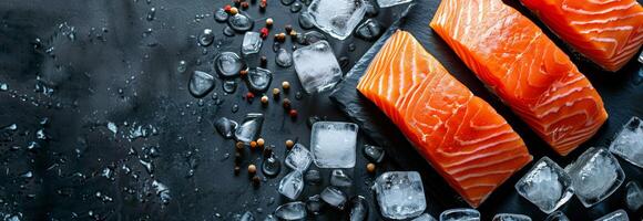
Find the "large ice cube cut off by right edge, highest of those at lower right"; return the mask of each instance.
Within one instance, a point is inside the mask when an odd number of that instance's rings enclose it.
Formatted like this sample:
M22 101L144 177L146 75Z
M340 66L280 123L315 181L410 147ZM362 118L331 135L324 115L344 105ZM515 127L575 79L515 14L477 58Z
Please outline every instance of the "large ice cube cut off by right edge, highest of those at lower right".
M643 168L643 120L632 117L616 135L610 151Z

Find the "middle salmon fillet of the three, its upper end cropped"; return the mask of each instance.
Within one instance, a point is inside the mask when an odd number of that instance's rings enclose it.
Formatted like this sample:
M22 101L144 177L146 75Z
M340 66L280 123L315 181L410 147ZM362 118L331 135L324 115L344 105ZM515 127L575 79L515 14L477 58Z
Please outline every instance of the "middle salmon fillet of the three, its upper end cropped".
M558 154L567 156L608 119L569 56L501 0L443 0L430 27Z

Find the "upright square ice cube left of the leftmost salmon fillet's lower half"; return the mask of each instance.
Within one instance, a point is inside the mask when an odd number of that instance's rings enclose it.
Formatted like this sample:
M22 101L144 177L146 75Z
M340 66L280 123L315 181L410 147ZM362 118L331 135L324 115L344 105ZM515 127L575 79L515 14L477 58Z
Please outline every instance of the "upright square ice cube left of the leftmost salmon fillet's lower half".
M357 128L353 123L315 123L310 133L315 165L319 168L355 167Z

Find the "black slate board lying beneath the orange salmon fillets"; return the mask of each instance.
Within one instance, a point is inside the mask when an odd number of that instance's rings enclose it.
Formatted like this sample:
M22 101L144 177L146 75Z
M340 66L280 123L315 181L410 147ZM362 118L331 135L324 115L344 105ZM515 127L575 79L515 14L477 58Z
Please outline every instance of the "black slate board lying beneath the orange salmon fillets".
M397 29L409 31L445 67L456 76L460 82L467 85L476 95L489 102L512 127L521 135L527 143L530 152L534 156L534 161L543 156L548 156L559 162L561 166L568 165L575 159L582 151L592 146L606 147L614 134L626 123L631 116L643 116L643 105L637 104L643 101L643 85L639 85L643 73L643 67L635 59L618 73L601 71L582 56L572 52L569 46L555 38L547 28L540 23L527 9L519 6L517 1L506 1L514 7L524 15L534 21L560 48L571 55L572 61L579 66L599 91L605 103L605 108L610 114L609 120L601 130L591 140L583 144L568 157L560 157L551 150L529 127L522 123L511 110L494 97L483 84L476 78L474 74L459 60L459 57L449 49L449 46L429 28L429 22L439 6L439 1L416 0L409 8L408 12L382 35L372 48L359 60L355 66L346 74L344 81L339 83L330 95L330 99L343 109L349 118L356 122L361 131L366 134L377 145L387 149L390 156L400 168L406 170L417 170L422 175L425 191L429 208L427 212L433 217L446 209L456 207L468 207L467 203L447 185L447 182L422 159L411 145L406 140L404 135L395 125L381 113L375 104L361 96L355 90L360 76L368 67L372 57L386 42L388 36ZM643 169L636 168L620 160L621 166L627 176L624 183L629 180L643 181ZM528 165L504 185L498 188L493 194L478 210L482 213L483 220L491 220L496 213L513 212L532 217L534 220L541 220L547 217L525 199L521 198L513 185L531 168L533 162ZM623 202L624 185L605 201L585 209L578 199L572 198L570 202L561 210L572 220L596 219L618 209L625 209ZM639 211L627 211L632 220L643 215Z

